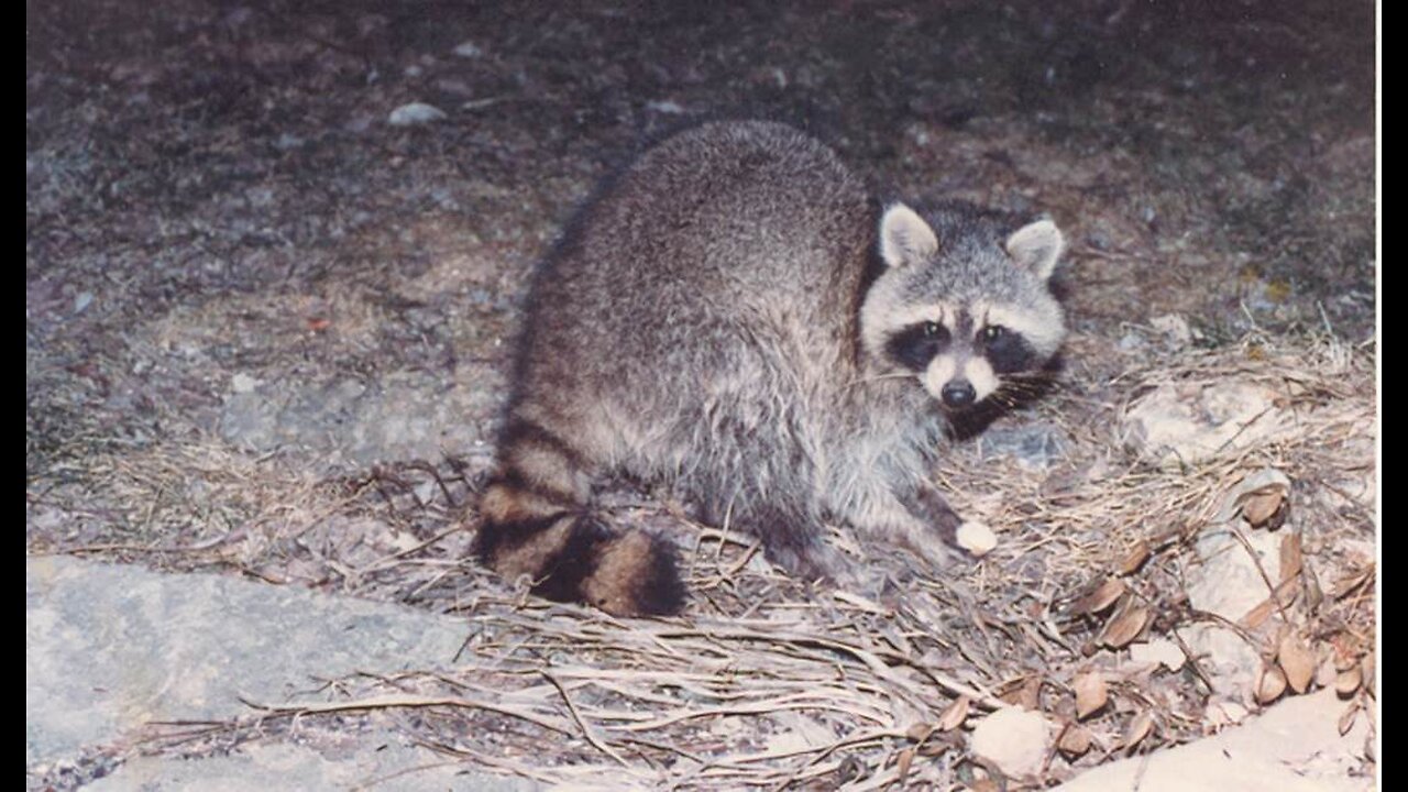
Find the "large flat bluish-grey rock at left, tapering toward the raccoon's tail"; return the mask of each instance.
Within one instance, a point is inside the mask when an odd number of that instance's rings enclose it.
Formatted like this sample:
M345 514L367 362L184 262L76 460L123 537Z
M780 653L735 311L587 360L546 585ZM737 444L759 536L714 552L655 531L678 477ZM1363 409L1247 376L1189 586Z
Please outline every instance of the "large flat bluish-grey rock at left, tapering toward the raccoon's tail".
M152 720L248 714L315 678L446 667L463 623L204 574L44 557L25 562L25 764ZM308 696L304 695L304 699Z

